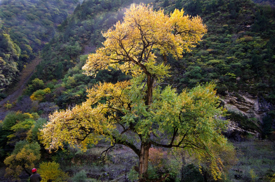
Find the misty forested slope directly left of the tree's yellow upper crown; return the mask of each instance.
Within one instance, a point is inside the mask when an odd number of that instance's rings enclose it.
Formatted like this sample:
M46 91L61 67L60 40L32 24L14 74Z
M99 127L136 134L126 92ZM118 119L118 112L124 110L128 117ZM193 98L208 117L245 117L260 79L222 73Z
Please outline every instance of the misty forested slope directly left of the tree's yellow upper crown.
M50 84L59 80L58 84L50 87L53 90L51 97L48 97L49 102L66 108L84 101L86 87L98 81L116 82L125 79L125 76L116 71L103 71L97 78L87 77L82 74L81 67L87 58L85 54L101 46L104 40L101 32L122 19L123 9L131 3L132 1L84 1L61 24L59 35L42 50L43 60L32 77Z

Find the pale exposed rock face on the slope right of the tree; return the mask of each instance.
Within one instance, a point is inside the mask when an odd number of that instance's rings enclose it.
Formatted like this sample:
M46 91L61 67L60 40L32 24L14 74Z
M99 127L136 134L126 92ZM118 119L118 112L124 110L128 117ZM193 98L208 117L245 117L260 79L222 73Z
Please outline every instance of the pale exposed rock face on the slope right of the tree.
M241 124L240 120L238 121L238 119L235 119L231 120L228 126L228 132L230 133L250 133L260 137L263 117L267 112L274 110L274 106L267 103L265 100L242 92L227 93L221 100L229 112L234 112L247 118L248 122L253 122L248 123L250 126L253 124L255 127L258 127L258 129L246 127Z

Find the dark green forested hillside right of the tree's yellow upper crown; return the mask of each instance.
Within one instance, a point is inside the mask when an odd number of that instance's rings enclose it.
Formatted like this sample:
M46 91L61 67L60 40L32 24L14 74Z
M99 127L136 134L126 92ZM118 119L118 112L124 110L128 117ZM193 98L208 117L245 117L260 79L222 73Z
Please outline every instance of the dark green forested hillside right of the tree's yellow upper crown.
M208 33L181 60L175 83L193 87L217 80L220 94L243 90L273 102L274 9L251 1L177 1L167 8L179 5L203 17Z

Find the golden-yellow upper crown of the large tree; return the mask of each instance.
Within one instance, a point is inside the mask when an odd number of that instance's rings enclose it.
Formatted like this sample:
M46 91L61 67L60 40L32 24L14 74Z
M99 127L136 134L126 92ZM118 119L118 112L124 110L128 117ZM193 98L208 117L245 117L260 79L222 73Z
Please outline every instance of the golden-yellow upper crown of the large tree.
M82 68L85 74L94 76L109 66L133 76L141 72L167 76L169 67L162 65L157 69L162 62L153 50L181 57L184 51L191 51L206 31L200 17L184 16L183 10L165 15L163 10L154 11L150 5L132 5L122 22L103 33L104 47L90 54Z

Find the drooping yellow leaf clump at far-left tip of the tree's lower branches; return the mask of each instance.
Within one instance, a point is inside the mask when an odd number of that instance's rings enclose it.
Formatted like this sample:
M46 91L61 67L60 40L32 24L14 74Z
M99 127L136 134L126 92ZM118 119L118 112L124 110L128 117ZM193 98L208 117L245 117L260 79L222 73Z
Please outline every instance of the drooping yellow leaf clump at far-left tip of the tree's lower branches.
M58 150L64 143L71 146L82 146L85 149L87 143L97 143L98 138L87 137L90 132L102 132L102 124L105 118L100 113L101 107L95 109L86 103L75 106L72 110L53 113L50 122L43 128L43 140L45 148Z

